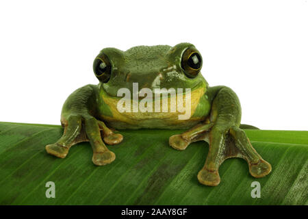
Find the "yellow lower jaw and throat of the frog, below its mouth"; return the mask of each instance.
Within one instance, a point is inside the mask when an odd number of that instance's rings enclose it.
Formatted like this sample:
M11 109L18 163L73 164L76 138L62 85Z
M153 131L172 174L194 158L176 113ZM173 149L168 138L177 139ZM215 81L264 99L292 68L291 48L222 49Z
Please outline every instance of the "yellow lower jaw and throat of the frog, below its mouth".
M126 88L127 89L127 88ZM129 89L123 96L109 96L101 89L101 97L112 112L113 118L118 120L161 120L166 119L172 122L188 120L194 114L196 107L205 94L206 87L199 86L194 90L183 90L184 92L155 92L151 96L138 96L131 94ZM105 93L105 94L104 94ZM164 95L165 94L165 95ZM140 99L141 97L141 99Z

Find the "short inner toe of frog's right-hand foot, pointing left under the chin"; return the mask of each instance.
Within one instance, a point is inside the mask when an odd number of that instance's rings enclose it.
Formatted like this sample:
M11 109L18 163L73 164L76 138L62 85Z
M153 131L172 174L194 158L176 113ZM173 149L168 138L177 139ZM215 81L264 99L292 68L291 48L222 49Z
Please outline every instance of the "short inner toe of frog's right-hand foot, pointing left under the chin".
M170 136L169 145L172 148L183 151L191 142L203 140L207 131L213 126L213 123L201 124L192 129L181 133L180 135Z

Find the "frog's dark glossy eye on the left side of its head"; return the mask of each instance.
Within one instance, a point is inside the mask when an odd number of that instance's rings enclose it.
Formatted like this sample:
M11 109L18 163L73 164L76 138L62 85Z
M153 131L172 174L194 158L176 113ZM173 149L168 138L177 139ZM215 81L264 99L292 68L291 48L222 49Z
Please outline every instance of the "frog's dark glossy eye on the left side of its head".
M97 55L93 62L93 70L95 75L97 76L97 79L99 79L103 83L109 81L112 68L107 55Z

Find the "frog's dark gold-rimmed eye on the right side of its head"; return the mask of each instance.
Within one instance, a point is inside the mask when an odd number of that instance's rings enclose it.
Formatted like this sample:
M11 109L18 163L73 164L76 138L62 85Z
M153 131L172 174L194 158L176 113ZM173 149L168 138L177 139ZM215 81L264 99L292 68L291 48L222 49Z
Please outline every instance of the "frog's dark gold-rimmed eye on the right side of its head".
M200 53L196 49L186 49L182 55L181 67L187 77L196 77L202 67Z

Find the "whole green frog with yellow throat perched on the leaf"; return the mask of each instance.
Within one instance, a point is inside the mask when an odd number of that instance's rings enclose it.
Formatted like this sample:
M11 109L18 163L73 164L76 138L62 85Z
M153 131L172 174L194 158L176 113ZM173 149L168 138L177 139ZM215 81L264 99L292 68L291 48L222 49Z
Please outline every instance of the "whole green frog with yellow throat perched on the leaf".
M60 120L64 133L57 142L46 146L47 153L64 158L74 144L90 142L92 162L103 166L116 158L106 144L122 142L120 131L123 129L183 129L180 134L170 136L168 143L173 149L184 151L197 141L209 145L205 164L197 175L203 185L218 185L218 169L231 157L245 159L253 177L265 177L272 167L255 151L246 136L245 125L240 123L242 110L237 94L227 86L209 86L201 74L202 66L201 53L189 42L174 47L137 46L126 51L113 47L102 49L93 62L99 84L86 85L68 96ZM119 96L118 91L125 88L136 93L136 83L147 95L152 92L159 97L152 102L158 108L163 99L167 101L167 110L141 112L137 108L128 112L119 109L118 103L123 96ZM174 95L168 95L171 88L182 89L181 94L189 97L188 118L179 119L183 110L168 111L175 100ZM132 105L138 104L143 100L140 96L128 96L126 100Z

